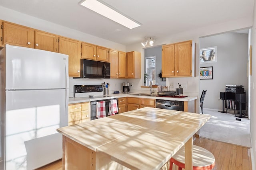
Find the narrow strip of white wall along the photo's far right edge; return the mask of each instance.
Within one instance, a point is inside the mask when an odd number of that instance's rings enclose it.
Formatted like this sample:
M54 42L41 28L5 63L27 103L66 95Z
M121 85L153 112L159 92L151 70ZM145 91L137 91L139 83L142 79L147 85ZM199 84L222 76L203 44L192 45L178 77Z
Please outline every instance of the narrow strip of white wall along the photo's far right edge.
M251 29L251 45L252 45L252 76L251 78L251 141L252 141L252 170L256 170L256 2L254 0L253 25ZM256 84L255 84L256 86Z

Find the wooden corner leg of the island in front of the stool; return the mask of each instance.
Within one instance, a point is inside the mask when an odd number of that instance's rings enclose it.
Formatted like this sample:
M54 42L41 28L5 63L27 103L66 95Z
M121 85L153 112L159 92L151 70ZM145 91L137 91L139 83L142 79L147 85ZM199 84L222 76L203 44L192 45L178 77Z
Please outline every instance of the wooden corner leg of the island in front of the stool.
M193 137L191 137L185 143L185 170L192 170L192 147L193 147Z

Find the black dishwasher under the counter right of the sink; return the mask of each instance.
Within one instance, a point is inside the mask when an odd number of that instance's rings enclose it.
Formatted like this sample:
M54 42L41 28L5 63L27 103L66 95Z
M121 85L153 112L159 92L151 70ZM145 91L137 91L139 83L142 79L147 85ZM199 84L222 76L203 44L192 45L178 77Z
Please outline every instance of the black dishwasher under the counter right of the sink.
M156 108L183 111L183 101L156 99Z

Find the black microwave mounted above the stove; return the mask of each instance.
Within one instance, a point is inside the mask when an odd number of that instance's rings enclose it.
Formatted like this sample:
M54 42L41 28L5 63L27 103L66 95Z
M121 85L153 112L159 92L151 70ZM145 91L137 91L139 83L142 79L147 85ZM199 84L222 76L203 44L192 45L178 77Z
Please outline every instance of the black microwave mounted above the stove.
M81 59L81 78L110 78L110 63Z

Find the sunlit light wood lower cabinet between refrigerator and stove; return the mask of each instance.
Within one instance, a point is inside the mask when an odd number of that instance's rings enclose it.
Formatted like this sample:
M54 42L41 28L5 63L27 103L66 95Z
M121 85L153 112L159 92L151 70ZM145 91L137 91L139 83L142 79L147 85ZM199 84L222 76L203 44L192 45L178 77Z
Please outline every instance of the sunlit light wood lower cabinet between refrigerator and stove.
M89 102L68 105L68 125L89 121Z

